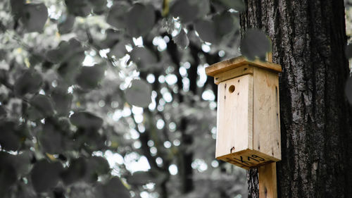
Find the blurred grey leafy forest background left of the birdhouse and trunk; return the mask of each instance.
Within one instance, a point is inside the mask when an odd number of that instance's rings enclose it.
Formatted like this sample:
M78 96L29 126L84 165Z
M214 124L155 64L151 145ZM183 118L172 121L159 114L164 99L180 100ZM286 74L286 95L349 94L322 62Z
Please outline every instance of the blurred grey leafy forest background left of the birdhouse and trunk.
M243 5L1 1L0 197L246 197L246 171L214 157L204 70L270 50Z

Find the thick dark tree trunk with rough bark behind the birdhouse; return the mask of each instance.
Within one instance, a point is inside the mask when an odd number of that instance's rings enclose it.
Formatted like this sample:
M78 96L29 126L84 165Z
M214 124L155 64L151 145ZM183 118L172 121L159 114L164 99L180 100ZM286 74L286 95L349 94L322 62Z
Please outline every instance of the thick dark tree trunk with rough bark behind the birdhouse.
M278 197L352 197L351 106L343 0L246 0L242 34L272 40L279 76L282 161ZM258 174L249 171L249 197Z

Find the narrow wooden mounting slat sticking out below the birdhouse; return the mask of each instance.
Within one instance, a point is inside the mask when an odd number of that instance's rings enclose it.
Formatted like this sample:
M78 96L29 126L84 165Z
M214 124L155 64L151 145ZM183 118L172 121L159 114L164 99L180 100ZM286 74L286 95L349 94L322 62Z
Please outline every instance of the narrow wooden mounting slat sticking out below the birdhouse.
M277 198L276 163L268 163L258 168L259 198Z

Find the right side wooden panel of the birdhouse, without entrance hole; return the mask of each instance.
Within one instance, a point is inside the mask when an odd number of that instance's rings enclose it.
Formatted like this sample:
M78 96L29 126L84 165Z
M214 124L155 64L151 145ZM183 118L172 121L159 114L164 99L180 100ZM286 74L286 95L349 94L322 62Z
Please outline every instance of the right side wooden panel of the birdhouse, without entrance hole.
M253 68L253 149L281 160L277 73Z

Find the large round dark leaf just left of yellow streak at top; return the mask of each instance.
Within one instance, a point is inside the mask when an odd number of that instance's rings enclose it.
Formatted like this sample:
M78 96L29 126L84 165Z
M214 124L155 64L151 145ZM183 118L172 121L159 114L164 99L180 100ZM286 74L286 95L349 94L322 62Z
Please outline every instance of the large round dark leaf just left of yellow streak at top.
M155 19L153 6L134 4L124 20L127 33L132 37L144 36L153 28Z

